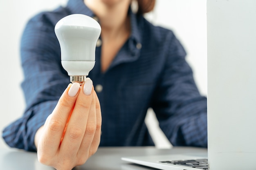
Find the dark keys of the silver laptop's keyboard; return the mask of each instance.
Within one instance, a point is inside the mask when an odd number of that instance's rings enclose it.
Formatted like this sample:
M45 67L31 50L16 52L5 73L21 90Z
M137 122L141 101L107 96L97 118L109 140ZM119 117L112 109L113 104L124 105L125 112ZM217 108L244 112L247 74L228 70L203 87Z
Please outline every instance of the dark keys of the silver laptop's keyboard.
M201 170L208 170L208 160L207 159L195 159L195 160L184 160L184 161L160 161L162 163L168 163L172 165L182 165L191 168L198 168Z

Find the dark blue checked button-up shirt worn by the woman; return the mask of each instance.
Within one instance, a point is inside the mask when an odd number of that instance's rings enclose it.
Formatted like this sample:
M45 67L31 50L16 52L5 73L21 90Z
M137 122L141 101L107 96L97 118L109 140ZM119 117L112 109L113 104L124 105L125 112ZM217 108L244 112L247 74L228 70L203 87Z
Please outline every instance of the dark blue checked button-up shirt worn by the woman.
M70 83L61 66L54 26L73 13L94 17L83 0L69 0L66 7L34 16L25 27L20 54L27 106L24 115L3 131L11 147L36 150L36 131ZM153 26L130 9L128 15L130 37L104 73L101 46L97 47L96 64L88 76L94 86L102 86L97 92L102 112L100 146L153 145L144 123L151 107L174 146L207 147L207 100L195 85L182 45L171 30Z

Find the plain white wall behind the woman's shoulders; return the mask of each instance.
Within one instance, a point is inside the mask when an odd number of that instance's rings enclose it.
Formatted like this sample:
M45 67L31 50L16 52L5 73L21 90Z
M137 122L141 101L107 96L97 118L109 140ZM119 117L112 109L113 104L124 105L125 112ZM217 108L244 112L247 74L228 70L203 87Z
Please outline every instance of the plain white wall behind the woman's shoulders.
M19 42L27 20L34 14L53 9L66 0L0 0L0 135L2 129L20 117L25 109L20 83L23 73L19 59ZM172 29L184 45L196 83L207 94L206 0L157 0L147 18ZM0 138L0 148L7 147Z

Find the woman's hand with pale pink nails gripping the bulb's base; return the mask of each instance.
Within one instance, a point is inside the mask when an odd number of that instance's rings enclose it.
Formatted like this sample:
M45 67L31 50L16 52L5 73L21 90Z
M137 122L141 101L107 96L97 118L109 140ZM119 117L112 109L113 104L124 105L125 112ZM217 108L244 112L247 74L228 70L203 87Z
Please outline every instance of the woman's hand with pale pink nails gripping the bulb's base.
M101 109L92 80L70 84L35 136L38 160L71 170L93 155L101 137Z

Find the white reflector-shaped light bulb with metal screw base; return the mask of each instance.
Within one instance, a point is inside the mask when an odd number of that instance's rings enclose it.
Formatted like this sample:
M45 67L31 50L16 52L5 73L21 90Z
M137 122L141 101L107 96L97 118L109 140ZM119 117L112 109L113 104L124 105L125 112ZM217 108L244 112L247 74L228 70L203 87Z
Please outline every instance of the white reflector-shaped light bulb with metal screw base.
M101 26L87 15L72 14L59 20L54 31L61 46L61 64L70 82L83 84L95 64Z

